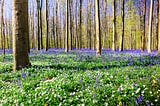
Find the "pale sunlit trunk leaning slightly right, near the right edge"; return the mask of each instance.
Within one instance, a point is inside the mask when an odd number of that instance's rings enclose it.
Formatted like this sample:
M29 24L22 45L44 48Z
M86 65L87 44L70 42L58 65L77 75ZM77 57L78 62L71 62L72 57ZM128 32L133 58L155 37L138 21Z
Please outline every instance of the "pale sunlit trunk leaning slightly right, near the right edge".
M153 0L150 3L150 14L149 14L149 33L148 33L148 53L151 53L151 36L152 36L152 16L153 16Z

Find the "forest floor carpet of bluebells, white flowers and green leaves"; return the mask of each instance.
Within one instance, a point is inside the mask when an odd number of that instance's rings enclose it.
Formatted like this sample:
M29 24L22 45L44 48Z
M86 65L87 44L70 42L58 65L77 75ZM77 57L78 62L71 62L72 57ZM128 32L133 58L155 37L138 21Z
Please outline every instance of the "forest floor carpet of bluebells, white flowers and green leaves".
M32 67L13 72L0 51L0 106L159 106L160 57L139 50L31 50Z

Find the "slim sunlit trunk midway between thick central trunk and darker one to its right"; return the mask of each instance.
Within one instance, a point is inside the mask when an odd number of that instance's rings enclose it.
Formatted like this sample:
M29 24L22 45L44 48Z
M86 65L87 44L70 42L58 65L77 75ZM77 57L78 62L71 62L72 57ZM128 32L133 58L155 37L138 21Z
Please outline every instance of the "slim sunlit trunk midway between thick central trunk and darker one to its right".
M113 1L113 38L112 38L112 50L116 49L116 1Z

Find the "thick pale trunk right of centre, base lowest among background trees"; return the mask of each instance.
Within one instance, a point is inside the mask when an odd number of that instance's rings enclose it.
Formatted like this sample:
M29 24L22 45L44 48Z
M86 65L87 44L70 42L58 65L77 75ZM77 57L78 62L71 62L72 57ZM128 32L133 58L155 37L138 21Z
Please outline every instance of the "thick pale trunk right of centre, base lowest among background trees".
M95 16L96 16L96 55L99 56L101 55L99 0L95 0Z

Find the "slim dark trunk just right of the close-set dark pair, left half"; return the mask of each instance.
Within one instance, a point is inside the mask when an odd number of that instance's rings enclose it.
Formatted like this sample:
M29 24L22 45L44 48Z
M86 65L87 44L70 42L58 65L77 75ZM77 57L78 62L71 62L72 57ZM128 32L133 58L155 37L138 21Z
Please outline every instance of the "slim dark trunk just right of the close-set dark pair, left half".
M48 19L48 0L46 0L46 51L48 50L48 47L49 47L49 43L48 43L48 39L49 39L49 26L48 26L48 23L49 23L49 19Z

